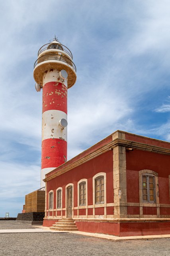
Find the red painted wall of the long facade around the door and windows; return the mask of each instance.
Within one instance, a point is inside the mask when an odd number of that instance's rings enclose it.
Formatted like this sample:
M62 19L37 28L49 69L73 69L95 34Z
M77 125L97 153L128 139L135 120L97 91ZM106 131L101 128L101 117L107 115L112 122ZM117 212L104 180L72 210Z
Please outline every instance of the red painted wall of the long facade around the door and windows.
M107 161L106 161L107 159ZM111 150L106 153L78 166L69 172L66 172L47 182L47 193L50 190L56 190L58 187L63 188L63 208L65 207L65 186L68 183L74 184L74 206L77 206L77 183L79 180L86 178L88 180L88 205L93 204L92 193L92 177L99 173L106 172L106 194L107 203L113 202L113 152ZM54 198L56 201L56 196ZM48 209L48 197L47 197L47 209Z

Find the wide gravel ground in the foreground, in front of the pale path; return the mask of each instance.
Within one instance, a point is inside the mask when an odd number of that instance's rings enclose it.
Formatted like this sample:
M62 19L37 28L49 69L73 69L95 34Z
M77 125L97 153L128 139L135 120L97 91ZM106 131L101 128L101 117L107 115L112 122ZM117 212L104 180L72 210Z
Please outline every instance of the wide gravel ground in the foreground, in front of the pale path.
M15 255L169 256L170 238L113 242L73 233L0 234L0 256Z

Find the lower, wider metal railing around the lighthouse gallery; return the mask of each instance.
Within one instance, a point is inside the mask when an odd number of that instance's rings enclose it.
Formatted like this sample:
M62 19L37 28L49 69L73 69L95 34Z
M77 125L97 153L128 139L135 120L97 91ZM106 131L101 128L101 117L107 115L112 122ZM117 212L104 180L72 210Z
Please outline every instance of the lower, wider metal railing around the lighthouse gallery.
M74 65L74 63L72 62L72 60L70 60L68 57L63 56L61 54L47 54L47 55L43 55L41 57L39 57L35 63L34 63L34 68L35 66L37 66L37 64L45 61L45 60L59 60L59 61L63 61L67 64L69 64L70 66L72 66L72 68L74 68L74 70L76 71L76 66Z

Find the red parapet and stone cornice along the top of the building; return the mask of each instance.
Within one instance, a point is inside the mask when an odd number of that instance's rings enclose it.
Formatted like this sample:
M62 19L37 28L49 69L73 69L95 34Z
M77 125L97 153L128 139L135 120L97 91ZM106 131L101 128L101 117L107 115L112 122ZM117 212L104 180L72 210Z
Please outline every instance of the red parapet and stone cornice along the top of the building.
M76 166L79 166L108 150L113 150L116 146L124 146L126 148L170 155L170 142L117 130L74 158L47 173L44 181L47 182L64 172L68 172Z

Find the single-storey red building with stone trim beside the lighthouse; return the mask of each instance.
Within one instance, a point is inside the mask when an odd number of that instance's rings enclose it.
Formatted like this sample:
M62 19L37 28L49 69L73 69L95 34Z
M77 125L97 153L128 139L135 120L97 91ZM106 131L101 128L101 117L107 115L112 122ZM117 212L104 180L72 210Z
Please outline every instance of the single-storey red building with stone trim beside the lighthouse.
M43 226L72 218L79 231L170 234L170 143L116 131L45 175Z

